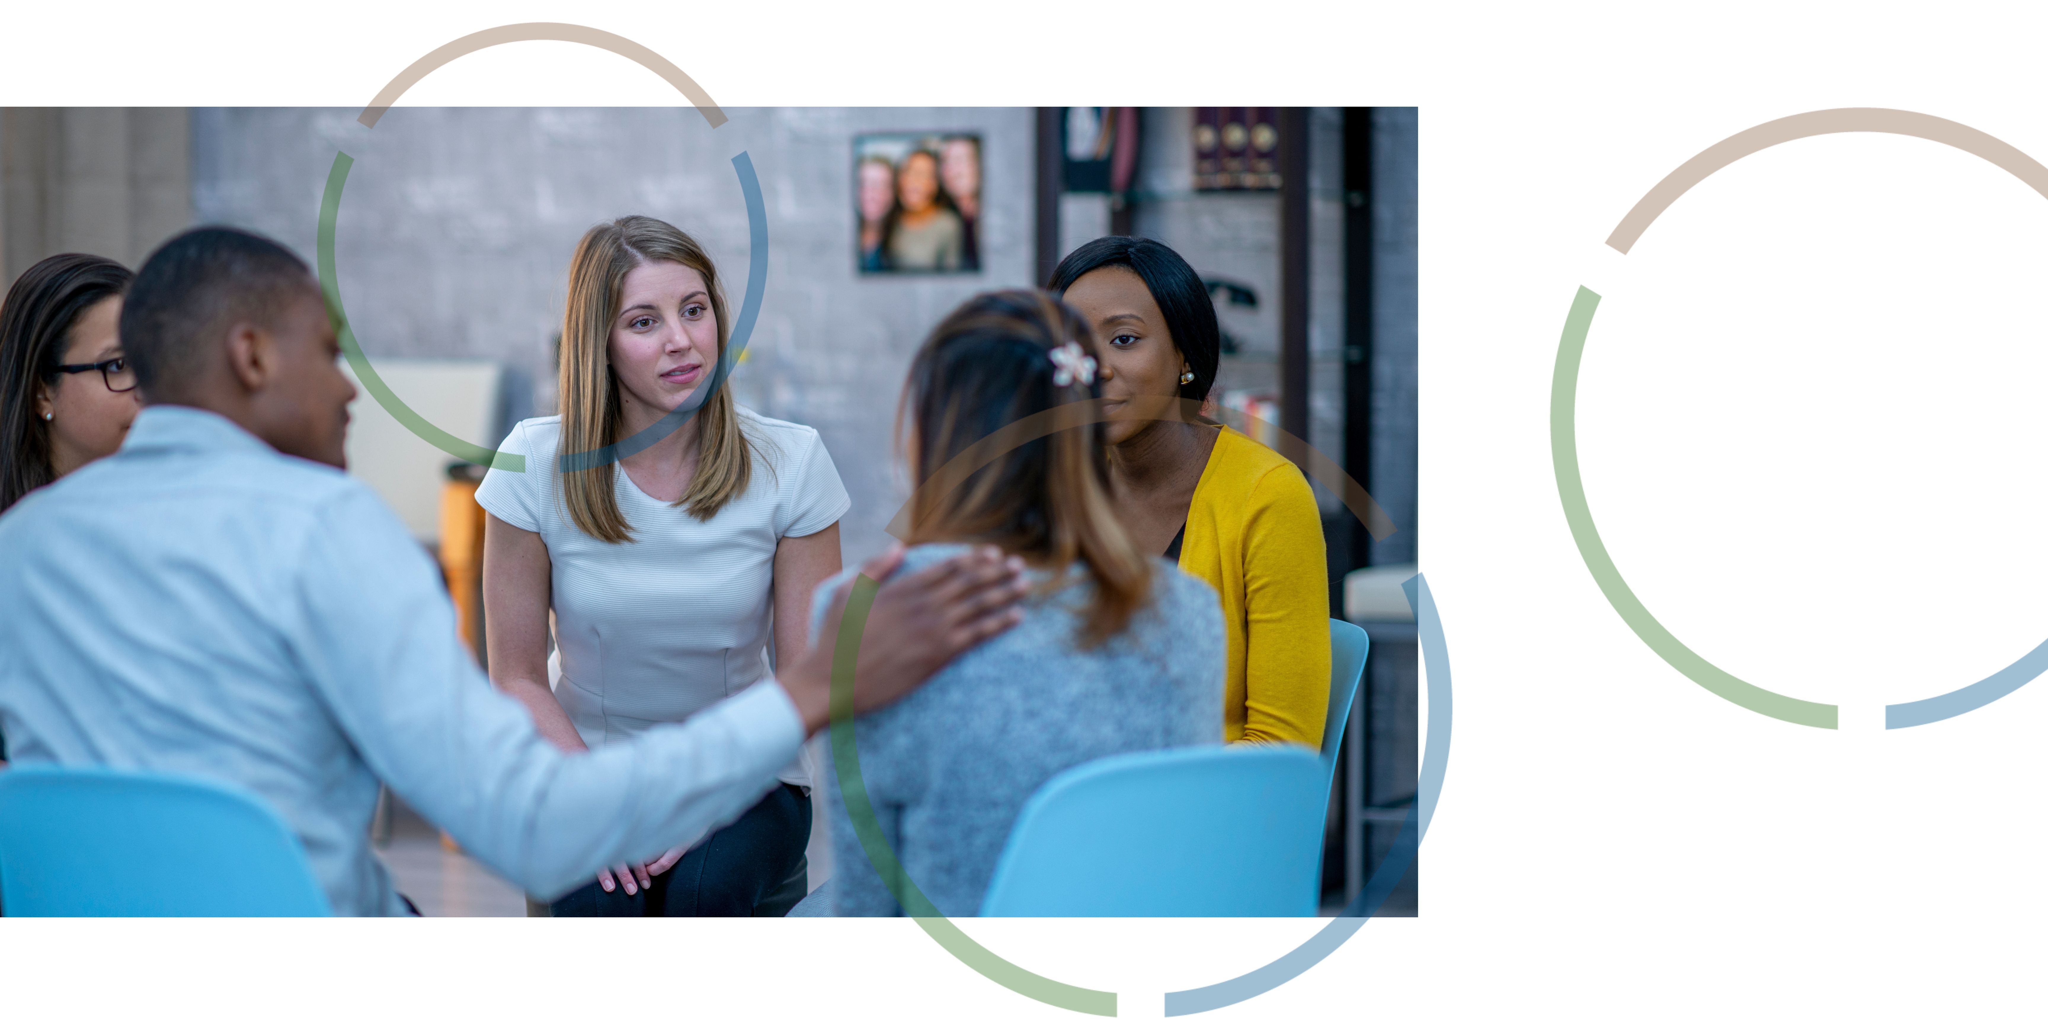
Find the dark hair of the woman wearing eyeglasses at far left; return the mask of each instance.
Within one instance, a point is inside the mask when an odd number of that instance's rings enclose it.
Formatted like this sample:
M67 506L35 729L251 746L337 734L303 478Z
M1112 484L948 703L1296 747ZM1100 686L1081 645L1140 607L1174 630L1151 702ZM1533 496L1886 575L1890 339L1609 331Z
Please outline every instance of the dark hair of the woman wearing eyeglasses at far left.
M31 266L6 289L0 301L0 512L57 479L49 465L49 424L35 414L35 389L57 381L78 317L123 295L133 279L127 266L104 256L66 252Z

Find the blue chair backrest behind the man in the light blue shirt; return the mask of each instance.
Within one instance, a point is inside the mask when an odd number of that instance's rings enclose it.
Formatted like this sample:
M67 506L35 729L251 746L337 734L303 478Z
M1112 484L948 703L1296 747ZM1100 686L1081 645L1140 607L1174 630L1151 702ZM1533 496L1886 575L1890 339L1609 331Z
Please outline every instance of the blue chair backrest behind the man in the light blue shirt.
M324 918L297 836L219 782L115 768L0 772L8 918Z

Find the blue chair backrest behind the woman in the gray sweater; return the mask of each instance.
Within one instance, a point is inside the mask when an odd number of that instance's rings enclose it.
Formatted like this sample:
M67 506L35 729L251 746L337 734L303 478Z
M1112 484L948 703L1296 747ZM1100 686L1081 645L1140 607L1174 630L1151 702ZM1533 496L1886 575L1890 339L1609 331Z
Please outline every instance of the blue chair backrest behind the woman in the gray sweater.
M985 918L1315 913L1321 764L1292 745L1120 754L1032 795Z

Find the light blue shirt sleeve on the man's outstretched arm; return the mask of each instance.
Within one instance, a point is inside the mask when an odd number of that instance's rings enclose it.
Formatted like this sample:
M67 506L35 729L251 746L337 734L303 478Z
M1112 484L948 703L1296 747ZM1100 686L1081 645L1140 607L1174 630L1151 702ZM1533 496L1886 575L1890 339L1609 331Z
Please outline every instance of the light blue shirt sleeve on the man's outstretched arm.
M393 793L539 897L739 817L803 745L780 686L590 754L543 739L477 670L432 563L369 492L334 502L301 559L293 655Z

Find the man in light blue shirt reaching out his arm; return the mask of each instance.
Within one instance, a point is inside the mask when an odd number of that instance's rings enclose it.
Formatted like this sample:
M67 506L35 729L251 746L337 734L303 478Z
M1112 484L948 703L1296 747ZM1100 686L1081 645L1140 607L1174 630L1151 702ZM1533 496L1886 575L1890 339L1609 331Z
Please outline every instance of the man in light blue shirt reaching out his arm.
M406 913L369 848L379 780L514 885L557 895L737 817L825 723L819 645L631 743L569 756L541 739L459 643L432 561L338 469L354 389L281 246L219 227L168 242L121 338L147 399L123 449L0 516L16 764L238 784L285 817L338 913ZM987 551L885 586L856 705L1008 629L1022 590Z

